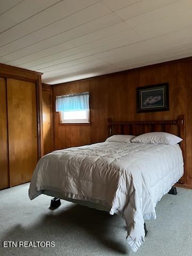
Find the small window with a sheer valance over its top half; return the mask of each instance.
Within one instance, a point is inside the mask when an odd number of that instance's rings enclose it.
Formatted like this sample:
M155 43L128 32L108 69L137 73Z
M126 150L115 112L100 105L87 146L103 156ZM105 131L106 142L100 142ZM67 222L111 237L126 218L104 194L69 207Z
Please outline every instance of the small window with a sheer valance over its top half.
M55 109L61 123L89 123L89 92L57 96Z

